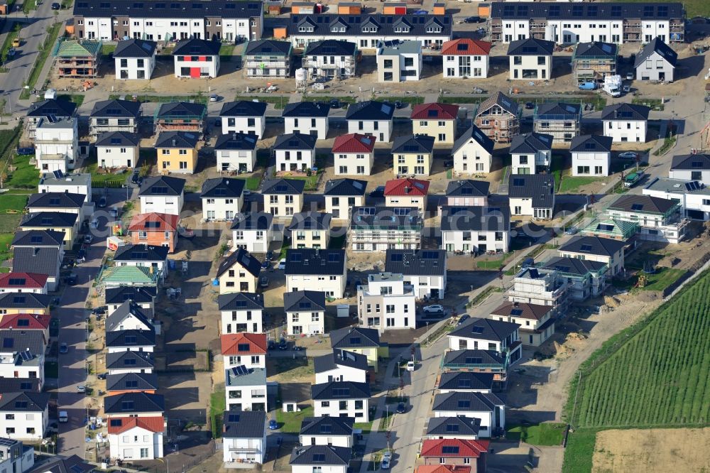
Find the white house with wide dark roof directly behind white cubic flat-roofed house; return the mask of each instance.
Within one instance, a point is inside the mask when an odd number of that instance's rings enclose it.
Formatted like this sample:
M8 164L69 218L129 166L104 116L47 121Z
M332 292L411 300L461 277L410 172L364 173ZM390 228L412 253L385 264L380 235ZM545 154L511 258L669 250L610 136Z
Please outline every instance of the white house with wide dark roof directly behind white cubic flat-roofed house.
M417 299L443 299L447 284L447 255L437 249L388 249L385 271L398 273L411 284Z

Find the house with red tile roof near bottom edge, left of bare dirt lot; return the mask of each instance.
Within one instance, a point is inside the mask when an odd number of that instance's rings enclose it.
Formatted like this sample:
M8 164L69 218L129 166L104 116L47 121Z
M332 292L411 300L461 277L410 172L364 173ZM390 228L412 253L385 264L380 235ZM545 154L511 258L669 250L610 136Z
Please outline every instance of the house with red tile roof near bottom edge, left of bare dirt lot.
M426 465L463 465L471 467L472 473L485 473L489 444L488 440L425 440L420 456Z

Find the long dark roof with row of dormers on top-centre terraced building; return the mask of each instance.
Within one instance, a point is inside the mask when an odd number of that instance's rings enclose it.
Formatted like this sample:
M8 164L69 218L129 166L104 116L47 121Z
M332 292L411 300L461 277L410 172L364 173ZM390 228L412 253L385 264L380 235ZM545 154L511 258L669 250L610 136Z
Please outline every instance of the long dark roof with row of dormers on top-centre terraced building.
M361 15L335 15L315 13L307 15L291 15L288 23L288 36L359 36L361 38L381 39L383 36L451 36L451 15L384 15L382 13L362 13ZM313 31L298 31L300 26L312 26ZM333 26L342 26L344 32L332 33ZM440 33L427 32L429 27L441 28ZM364 27L373 27L375 31L362 31ZM395 32L395 28L400 31ZM401 28L409 28L406 33Z

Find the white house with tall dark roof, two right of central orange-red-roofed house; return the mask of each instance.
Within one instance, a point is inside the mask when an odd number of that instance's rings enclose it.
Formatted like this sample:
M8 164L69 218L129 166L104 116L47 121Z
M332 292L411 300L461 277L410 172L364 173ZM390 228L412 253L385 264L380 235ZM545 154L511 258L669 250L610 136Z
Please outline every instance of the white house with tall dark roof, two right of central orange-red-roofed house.
M551 219L555 211L555 177L552 174L511 174L508 198L510 214Z

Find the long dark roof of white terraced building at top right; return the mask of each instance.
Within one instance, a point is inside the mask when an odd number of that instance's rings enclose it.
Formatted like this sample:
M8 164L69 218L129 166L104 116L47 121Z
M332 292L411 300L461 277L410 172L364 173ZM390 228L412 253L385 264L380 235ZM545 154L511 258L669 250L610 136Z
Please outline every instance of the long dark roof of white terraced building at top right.
M641 20L684 18L683 5L679 3L570 3L506 1L491 4L491 18L506 20L550 18L577 20L618 20L640 18Z

